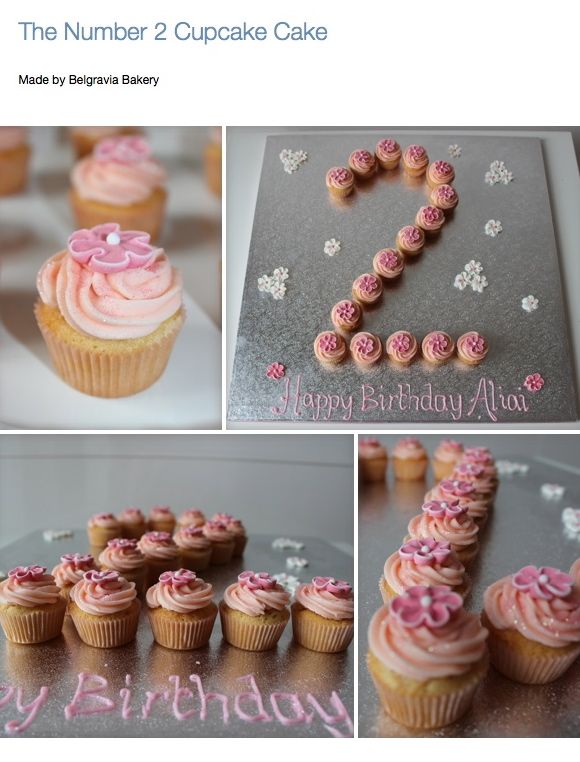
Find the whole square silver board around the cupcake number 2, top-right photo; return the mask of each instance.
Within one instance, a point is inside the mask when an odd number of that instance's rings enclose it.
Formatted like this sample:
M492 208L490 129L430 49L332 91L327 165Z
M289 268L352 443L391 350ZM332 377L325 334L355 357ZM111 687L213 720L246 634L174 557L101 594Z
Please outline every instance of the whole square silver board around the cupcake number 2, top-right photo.
M411 331L419 341L432 330L447 331L454 339L477 330L490 343L486 360L475 368L458 361L431 368L419 360L404 369L383 361L362 372L350 358L334 369L315 359L313 341L320 331L332 330L332 306L351 298L354 279L372 272L374 254L394 246L397 231L412 223L426 203L425 183L405 180L399 171L380 171L374 180L359 183L346 202L330 197L326 171L346 165L356 148L373 150L384 136L368 132L267 139L230 388L230 420L576 420L558 256L542 145L536 138L413 136L431 160L453 163L459 205L440 236L428 241L420 256L408 258L399 282L385 287L379 306L364 313L363 330L383 340L399 329ZM410 142L408 135L393 137L403 146ZM449 157L451 143L461 145L459 158ZM308 160L293 174L284 172L279 159L284 148L308 152ZM508 185L490 187L484 182L496 159L514 174ZM490 219L503 225L496 238L484 233ZM341 251L333 257L324 253L330 238L341 242ZM470 260L481 262L489 282L482 294L453 286ZM279 301L257 287L258 278L276 267L289 270L286 296ZM532 313L521 306L529 294L540 303ZM285 378L266 377L273 362L286 366ZM532 373L545 379L544 388L535 394L522 388ZM409 394L416 397L409 399Z

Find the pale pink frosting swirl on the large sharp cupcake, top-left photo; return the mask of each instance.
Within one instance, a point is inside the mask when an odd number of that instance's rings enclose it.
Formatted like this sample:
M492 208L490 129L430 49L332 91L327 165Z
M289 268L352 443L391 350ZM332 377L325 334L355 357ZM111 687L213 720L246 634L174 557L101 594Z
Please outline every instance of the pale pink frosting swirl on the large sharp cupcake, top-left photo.
M92 229L105 239L118 231L116 223ZM70 253L60 252L42 265L36 285L41 300L58 307L72 328L98 339L148 336L182 302L181 276L162 249L145 267L109 273L95 272Z

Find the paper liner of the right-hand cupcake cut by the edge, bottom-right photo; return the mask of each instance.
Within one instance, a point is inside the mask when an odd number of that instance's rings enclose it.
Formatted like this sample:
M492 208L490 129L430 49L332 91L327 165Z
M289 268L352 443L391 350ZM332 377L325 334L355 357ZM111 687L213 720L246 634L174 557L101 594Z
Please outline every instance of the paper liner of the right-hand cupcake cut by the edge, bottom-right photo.
M565 649L565 654L556 653L553 656L520 653L516 648L495 636L493 631L490 631L488 645L491 663L498 672L518 683L530 685L543 685L557 680L572 666L580 654L580 646L574 651Z

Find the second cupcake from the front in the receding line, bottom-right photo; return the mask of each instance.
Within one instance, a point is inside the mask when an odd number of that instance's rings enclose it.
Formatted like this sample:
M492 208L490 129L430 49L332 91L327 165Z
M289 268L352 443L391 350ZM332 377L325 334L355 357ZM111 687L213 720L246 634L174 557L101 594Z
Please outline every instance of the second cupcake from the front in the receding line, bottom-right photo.
M471 590L471 580L457 553L448 542L434 537L407 540L385 561L379 581L385 603L415 585L446 585L463 599Z

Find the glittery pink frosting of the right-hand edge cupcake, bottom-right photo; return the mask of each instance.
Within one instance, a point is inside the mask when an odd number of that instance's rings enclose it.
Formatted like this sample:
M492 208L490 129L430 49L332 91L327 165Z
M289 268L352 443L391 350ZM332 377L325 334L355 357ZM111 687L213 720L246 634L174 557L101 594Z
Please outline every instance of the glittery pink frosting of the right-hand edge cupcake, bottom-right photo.
M487 588L484 610L498 630L517 630L551 648L580 643L580 592L551 567L524 567Z

